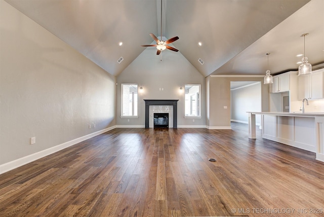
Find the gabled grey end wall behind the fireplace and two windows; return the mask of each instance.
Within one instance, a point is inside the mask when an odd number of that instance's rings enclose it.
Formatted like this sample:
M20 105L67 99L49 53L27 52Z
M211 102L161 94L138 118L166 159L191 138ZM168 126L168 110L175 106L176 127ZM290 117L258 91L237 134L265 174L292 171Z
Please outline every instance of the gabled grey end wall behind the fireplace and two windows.
M173 46L174 47L174 46ZM206 97L205 77L193 67L181 54L170 50L162 51L162 61L156 55L156 48L146 48L118 77L117 77L117 126L145 125L145 101L143 99L179 99L178 127L206 127ZM120 86L121 83L136 83L143 87L138 94L138 118L120 118ZM184 85L201 85L201 118L184 118ZM182 91L180 91L182 87ZM159 90L163 88L164 90ZM193 122L194 120L194 122Z

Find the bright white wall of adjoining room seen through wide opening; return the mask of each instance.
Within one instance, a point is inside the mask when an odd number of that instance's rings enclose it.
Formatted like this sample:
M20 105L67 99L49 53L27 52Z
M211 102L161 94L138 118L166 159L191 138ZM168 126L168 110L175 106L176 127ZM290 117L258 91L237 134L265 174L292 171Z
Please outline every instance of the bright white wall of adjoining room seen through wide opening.
M248 123L247 112L261 112L261 82L231 90L231 120ZM256 123L261 123L259 115L256 116Z

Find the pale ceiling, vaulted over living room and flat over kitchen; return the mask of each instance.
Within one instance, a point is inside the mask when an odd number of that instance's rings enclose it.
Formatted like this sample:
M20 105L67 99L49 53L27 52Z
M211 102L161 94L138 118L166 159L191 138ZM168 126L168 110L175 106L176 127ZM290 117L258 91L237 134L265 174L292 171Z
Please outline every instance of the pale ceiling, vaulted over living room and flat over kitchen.
M140 45L155 44L151 32L161 35L160 0L6 2L111 75L118 76L144 49L159 58L156 48ZM205 77L264 75L266 53L273 74L298 68L300 35L306 32L309 62L324 62L323 14L323 0L163 0L162 35L178 36L171 46Z

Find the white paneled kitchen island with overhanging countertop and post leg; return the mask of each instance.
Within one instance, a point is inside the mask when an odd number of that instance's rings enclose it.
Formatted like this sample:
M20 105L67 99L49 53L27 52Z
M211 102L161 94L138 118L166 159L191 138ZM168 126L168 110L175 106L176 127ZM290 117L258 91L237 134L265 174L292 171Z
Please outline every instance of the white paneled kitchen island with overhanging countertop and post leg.
M261 115L262 138L316 153L324 162L324 113L248 112L249 138L256 138L255 116Z

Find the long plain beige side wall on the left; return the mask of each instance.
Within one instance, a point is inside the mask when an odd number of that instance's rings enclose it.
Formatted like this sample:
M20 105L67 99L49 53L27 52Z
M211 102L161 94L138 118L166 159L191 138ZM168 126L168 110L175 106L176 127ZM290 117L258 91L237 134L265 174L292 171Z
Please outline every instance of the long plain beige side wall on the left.
M116 86L95 63L0 4L1 173L5 164L114 126Z

